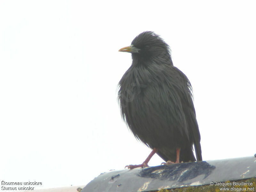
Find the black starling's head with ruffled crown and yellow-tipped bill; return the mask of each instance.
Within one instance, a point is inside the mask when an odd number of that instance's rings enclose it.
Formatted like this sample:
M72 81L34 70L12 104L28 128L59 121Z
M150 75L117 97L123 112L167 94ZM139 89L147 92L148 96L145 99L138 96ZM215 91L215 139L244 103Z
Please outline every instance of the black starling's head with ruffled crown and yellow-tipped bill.
M119 51L132 53L133 60L172 62L169 45L152 31L140 33L133 39L130 46L121 48Z

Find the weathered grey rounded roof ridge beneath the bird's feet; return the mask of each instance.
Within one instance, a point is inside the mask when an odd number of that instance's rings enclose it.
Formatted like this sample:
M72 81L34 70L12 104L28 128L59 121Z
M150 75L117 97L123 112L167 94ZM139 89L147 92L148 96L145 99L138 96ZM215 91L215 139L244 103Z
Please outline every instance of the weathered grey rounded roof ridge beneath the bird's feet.
M188 186L209 185L211 182L215 186L216 182L255 177L256 158L251 156L105 172L88 183L82 192L185 189Z

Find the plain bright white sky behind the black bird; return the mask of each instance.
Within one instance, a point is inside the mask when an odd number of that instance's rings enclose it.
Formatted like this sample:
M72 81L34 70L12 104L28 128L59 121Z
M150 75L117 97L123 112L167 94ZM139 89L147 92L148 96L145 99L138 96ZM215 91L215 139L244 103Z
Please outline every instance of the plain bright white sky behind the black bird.
M255 1L1 0L0 180L86 185L145 160L116 88L131 65L118 50L146 30L191 81L203 160L253 156L255 10Z

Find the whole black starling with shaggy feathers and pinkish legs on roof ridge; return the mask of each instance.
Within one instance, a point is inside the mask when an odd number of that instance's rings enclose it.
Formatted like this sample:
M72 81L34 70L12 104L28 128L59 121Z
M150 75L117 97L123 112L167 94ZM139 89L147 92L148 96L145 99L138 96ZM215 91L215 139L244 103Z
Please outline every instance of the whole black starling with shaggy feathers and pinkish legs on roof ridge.
M125 168L148 167L154 154L164 164L202 161L192 86L173 66L169 45L155 32L144 31L119 52L132 54L118 83L122 118L135 138L152 149L142 164Z

